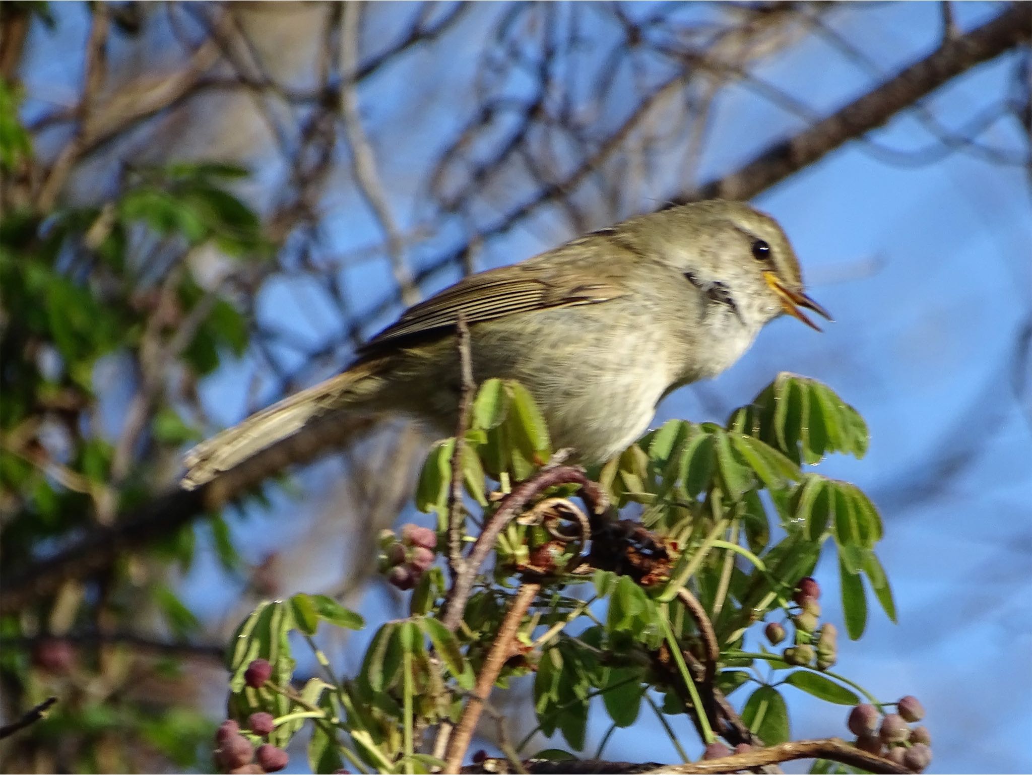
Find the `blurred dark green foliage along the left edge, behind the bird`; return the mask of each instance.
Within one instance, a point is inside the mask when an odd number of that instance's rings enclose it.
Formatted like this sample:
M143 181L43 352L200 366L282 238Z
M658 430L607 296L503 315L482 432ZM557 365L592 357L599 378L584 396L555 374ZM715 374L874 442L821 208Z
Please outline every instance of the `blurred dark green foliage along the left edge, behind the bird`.
M7 206L0 223L4 574L90 529L98 513L109 516L132 508L164 485L165 477L155 473L167 467L185 442L200 437L188 419L194 381L227 356L243 354L249 343L245 316L221 289L204 287L188 260L190 252L212 246L253 259L269 250L258 216L233 193L247 171L228 165L133 170L108 200L90 205L59 201L41 212L22 204L29 197L15 192L19 182L41 171L20 120L19 100L19 90L0 83L0 185ZM184 330L190 335L184 336ZM130 391L140 388L141 364L149 356L153 360L155 352L161 368L169 367L180 379L163 374L147 388L149 393L160 389L144 405L146 420L115 481L118 442L100 418L107 416L112 400L132 397ZM116 397L114 375L116 389L124 391ZM237 568L224 519L214 516L205 529L223 563ZM189 567L195 541L194 529L185 528L155 547L149 559L157 560L158 569L167 561ZM162 579L161 570L140 573L137 563L135 573L127 573L131 568L131 562L121 563L108 579L103 595L108 620L155 612L176 638L198 632L196 617ZM94 596L74 592L61 601L5 617L0 637L94 626ZM55 682L69 681L40 667L34 654L35 649L21 648L0 653L12 707L31 707L55 690ZM83 649L67 668L76 676L72 683L87 685L100 674L102 680L94 684L108 693L66 685L56 710L27 731L23 741L36 739L49 746L62 740L62 749L75 750L82 760L55 766L84 772L135 766L128 758L122 764L96 758L98 751L110 748L105 736L142 743L183 767L196 766L204 751L200 738L211 735L209 720L198 711L156 707L150 697L141 703L131 687L124 690L122 682L133 674L130 663L136 656L131 649L111 646L101 660L95 649ZM169 659L155 670L171 680L175 666ZM73 737L82 744L70 744ZM135 750L120 748L126 756Z

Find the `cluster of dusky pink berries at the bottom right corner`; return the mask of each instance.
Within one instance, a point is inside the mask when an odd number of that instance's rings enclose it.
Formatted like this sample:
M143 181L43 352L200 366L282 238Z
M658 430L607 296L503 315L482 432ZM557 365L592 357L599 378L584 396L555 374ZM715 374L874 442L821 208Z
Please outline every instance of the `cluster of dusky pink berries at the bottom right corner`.
M849 711L847 723L857 736L854 745L861 750L921 772L932 762L932 737L925 726L910 726L910 723L924 717L921 702L907 695L896 703L895 713L882 715L873 705L858 705Z

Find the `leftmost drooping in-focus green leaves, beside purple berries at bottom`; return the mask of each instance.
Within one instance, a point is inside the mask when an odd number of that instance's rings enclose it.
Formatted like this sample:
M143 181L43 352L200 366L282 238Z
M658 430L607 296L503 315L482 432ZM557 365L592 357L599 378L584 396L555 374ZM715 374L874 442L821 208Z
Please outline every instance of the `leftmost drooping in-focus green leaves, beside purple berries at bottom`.
M440 583L440 572L437 576ZM263 603L245 619L228 655L229 715L246 719L256 711L271 713L276 729L268 741L280 747L305 719L313 719L308 744L313 772L341 769L342 758L377 772L442 767L443 762L414 749L414 736L429 723L458 719L461 704L446 689L449 677L464 689L473 688L473 668L455 637L438 619L424 615L387 622L374 635L357 678L341 681L312 638L321 621L348 629L363 626L358 614L318 594ZM291 634L309 643L326 680L314 677L296 691L289 688L295 668ZM256 658L272 667L272 677L258 688L245 678Z

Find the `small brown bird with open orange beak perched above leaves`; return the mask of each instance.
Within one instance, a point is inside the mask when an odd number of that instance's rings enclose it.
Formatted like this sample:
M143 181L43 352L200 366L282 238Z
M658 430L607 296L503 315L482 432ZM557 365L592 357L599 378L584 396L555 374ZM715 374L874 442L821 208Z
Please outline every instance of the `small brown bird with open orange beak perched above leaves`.
M645 431L665 395L731 366L769 321L788 314L816 328L800 306L831 319L804 293L769 216L714 200L632 218L416 304L343 374L191 450L183 484L203 484L310 423L404 413L453 432L459 314L474 378L519 380L554 446L601 462Z

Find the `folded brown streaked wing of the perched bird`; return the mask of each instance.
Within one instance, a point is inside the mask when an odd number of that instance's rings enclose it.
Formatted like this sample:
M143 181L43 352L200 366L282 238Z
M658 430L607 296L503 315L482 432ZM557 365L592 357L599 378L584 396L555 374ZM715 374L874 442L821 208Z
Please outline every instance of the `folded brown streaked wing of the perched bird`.
M396 323L374 336L363 354L399 340L444 333L459 313L473 325L485 320L556 306L596 304L624 295L602 272L571 271L554 264L514 264L471 275L405 312Z

